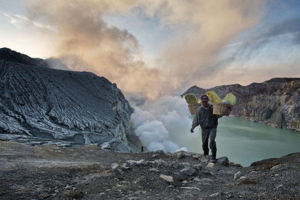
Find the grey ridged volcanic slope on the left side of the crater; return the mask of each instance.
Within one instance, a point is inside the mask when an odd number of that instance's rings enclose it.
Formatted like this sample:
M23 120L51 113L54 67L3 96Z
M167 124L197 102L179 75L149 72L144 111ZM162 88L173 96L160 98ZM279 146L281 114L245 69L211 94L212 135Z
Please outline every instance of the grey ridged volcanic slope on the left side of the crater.
M133 108L116 84L91 72L48 68L40 58L0 49L0 139L31 145L96 143L139 151Z

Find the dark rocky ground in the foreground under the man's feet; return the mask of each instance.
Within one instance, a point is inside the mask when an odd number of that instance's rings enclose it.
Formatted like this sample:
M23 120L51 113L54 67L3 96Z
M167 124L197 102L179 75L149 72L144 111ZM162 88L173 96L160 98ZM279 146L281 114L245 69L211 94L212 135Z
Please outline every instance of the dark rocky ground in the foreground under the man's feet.
M192 152L0 141L0 199L300 199L300 152L242 167Z

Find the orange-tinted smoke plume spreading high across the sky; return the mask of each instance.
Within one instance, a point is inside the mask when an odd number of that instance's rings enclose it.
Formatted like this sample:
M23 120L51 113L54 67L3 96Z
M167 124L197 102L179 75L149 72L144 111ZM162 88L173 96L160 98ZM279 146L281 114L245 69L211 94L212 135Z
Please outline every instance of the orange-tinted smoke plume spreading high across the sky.
M72 70L92 71L116 82L122 91L149 96L182 92L195 84L207 86L208 81L218 84L217 76L209 76L219 69L214 63L220 46L255 25L263 7L260 0L26 0L25 4L30 20L53 27L45 35L55 46L55 56ZM136 37L103 19L105 14L130 15L137 8L177 32L157 49L162 54L151 68L140 59Z

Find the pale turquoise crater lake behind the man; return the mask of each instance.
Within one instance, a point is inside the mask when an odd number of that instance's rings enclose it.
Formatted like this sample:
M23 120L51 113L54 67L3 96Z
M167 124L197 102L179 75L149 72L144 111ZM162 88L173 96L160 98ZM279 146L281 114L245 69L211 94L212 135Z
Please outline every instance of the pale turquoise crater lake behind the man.
M203 153L199 126L195 131L199 131L199 140L190 141L188 150ZM300 151L299 133L235 117L219 119L216 142L217 157L227 156L243 166Z

